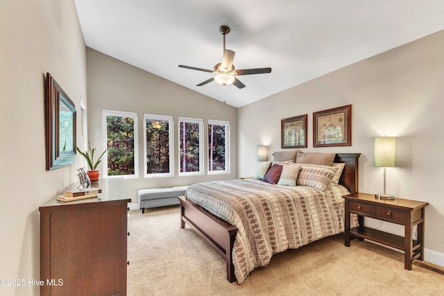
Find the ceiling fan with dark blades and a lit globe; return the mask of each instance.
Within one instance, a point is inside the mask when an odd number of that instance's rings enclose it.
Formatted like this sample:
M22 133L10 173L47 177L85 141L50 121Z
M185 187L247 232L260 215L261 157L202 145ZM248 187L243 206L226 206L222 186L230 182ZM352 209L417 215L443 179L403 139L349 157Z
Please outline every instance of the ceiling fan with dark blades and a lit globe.
M241 89L241 88L244 88L245 85L244 85L244 83L240 82L239 79L237 79L235 76L271 73L271 68L236 70L234 68L234 64L233 64L234 51L230 51L230 49L225 49L225 35L230 33L230 28L228 28L228 26L221 26L219 28L219 32L221 32L221 34L223 35L223 57L222 57L222 62L219 62L216 64L216 66L214 66L214 70L189 67L189 66L184 66L183 64L179 65L179 67L181 67L181 68L197 70L197 71L204 71L204 72L216 74L212 78L205 80L204 82L201 82L196 86L200 87L200 86L206 85L207 83L212 82L214 80L216 83L219 83L220 85L233 84L237 88Z

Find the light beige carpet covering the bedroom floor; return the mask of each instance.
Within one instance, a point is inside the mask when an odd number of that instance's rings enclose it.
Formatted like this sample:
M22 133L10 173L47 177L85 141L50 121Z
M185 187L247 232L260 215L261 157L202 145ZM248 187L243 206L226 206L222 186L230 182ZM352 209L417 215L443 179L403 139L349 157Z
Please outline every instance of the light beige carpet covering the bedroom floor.
M343 234L276 254L244 284L226 280L225 262L190 228L180 209L128 214L128 295L444 295L444 276L404 254Z

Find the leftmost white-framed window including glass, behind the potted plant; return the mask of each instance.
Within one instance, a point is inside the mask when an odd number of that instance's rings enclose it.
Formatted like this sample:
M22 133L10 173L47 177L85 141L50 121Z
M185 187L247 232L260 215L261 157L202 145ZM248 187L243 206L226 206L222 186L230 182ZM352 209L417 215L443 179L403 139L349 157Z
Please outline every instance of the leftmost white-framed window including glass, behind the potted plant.
M137 113L102 110L105 177L138 177Z

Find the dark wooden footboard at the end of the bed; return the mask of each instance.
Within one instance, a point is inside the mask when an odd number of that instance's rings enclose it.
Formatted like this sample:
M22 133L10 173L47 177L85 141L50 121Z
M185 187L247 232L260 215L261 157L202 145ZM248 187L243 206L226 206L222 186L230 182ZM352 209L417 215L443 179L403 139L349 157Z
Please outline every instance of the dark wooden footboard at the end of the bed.
M221 220L185 196L179 196L180 201L180 228L185 223L191 227L200 237L218 252L227 265L227 280L236 281L234 265L232 263L232 248L236 238L237 228Z

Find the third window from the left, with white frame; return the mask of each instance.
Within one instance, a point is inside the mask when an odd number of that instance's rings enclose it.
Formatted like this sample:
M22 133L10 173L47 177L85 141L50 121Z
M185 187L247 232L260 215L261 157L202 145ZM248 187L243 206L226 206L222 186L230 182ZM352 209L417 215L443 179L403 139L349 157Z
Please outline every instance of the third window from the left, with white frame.
M179 117L179 175L203 174L203 119Z

